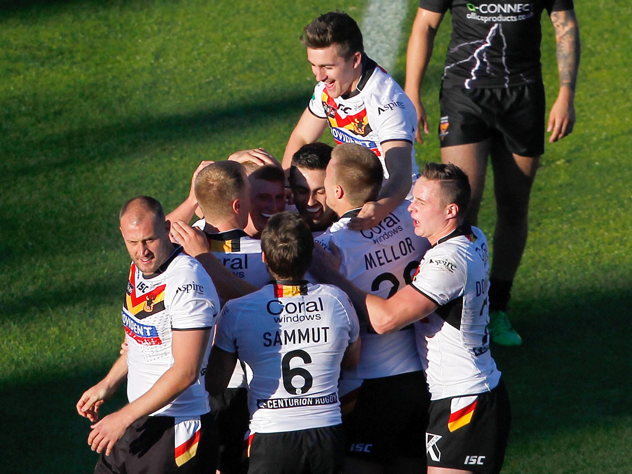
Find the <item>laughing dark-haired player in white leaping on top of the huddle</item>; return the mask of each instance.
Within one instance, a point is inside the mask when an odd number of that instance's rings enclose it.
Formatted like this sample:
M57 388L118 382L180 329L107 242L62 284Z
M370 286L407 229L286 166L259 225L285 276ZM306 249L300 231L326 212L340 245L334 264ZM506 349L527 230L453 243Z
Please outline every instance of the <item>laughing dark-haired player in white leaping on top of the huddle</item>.
M379 199L363 206L356 225L368 229L410 193L415 162L416 113L398 83L368 58L362 33L346 13L325 13L303 29L301 41L318 81L312 100L292 131L283 168L305 143L329 126L336 143L358 143L372 150L384 168Z

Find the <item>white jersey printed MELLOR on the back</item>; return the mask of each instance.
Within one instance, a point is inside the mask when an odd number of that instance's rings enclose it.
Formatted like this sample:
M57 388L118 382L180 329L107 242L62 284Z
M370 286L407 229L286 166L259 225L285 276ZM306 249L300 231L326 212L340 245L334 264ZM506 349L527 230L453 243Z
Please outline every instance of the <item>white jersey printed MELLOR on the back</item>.
M316 239L331 252L333 242L341 252L340 272L358 288L388 298L410 284L423 254L430 248L427 238L415 235L413 220L404 200L372 229L351 231L349 221L360 209L344 214L327 233ZM360 325L360 363L343 371L343 379L376 379L422 370L413 325L392 334L376 334Z

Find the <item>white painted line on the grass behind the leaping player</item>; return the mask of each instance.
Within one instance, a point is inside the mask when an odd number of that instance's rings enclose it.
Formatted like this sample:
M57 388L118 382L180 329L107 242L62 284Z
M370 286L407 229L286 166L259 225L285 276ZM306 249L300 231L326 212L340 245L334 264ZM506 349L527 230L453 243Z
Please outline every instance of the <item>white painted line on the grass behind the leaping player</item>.
M405 0L370 0L362 20L364 50L391 74L401 41L401 23L407 11Z

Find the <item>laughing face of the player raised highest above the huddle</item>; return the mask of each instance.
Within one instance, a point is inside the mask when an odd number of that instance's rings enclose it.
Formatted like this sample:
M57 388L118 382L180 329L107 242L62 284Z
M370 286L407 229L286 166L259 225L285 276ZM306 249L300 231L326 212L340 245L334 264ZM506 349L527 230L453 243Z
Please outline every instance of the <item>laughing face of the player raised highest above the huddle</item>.
M362 53L344 58L338 54L337 44L322 49L307 48L307 60L316 80L325 83L325 91L333 99L353 92L362 75Z

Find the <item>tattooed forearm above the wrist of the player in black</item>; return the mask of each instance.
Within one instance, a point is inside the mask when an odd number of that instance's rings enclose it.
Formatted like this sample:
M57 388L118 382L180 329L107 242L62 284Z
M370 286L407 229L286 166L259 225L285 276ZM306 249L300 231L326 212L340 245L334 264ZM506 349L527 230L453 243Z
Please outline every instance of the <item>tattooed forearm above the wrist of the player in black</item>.
M580 67L580 28L573 10L554 11L550 15L557 42L557 70L560 87L569 87L573 92Z

